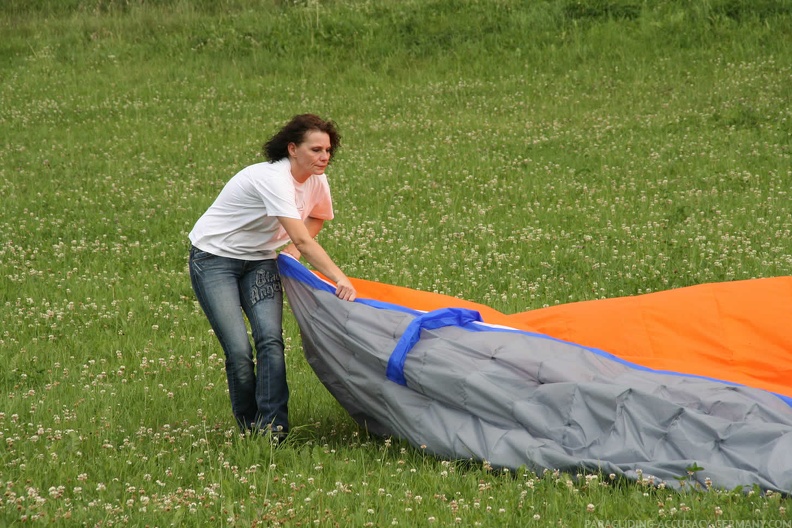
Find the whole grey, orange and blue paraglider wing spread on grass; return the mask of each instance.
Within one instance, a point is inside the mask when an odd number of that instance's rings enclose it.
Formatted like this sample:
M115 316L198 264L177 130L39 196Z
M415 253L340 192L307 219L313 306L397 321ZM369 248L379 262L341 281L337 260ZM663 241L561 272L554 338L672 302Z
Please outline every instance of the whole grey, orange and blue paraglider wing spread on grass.
M309 364L372 433L495 467L792 490L788 277L509 316L360 280L350 303L294 259L279 265ZM447 308L484 321L415 330ZM402 339L406 384L387 376Z

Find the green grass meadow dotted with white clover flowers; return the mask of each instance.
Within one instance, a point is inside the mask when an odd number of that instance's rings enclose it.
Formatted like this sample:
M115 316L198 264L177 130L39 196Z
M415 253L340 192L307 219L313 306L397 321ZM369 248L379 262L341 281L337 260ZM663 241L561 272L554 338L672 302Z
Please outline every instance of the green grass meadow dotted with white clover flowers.
M241 439L186 235L312 111L350 275L504 312L789 275L791 45L788 0L6 0L0 525L789 523L368 437L290 317L295 434Z

